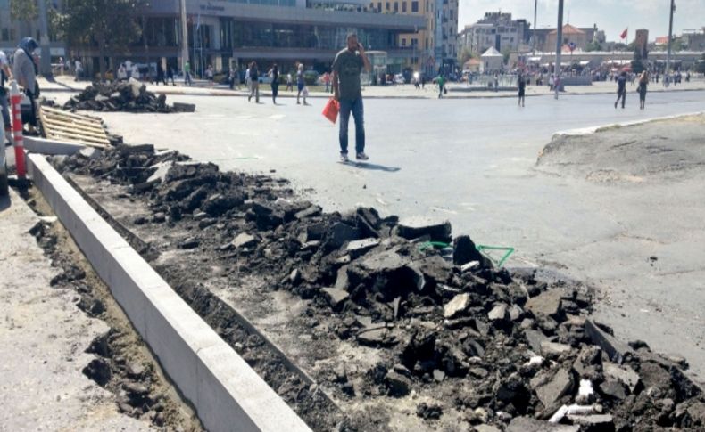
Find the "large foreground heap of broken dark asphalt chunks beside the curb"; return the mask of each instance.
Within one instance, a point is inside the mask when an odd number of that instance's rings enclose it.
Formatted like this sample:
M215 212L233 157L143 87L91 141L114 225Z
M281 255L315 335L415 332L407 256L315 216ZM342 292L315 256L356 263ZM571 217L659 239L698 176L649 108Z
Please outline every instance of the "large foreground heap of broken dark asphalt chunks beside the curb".
M494 268L447 222L374 208L326 214L284 180L221 173L151 145L54 165L129 185L153 210L134 224L186 226L178 248L207 250L311 299L314 324L328 320L336 338L377 347L383 360L369 371L341 368L320 383L336 397L445 386L445 403L418 403L416 415L433 424L452 409L462 428L485 432L705 428L705 395L684 359L619 341L590 318L584 285Z

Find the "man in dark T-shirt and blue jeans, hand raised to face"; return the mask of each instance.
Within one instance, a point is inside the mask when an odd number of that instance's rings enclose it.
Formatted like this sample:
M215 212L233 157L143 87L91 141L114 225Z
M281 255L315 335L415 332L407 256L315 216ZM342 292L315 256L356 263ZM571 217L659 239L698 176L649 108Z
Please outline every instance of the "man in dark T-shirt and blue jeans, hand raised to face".
M365 154L365 125L362 107L360 74L362 68L370 71L364 47L358 42L355 33L347 36L347 47L337 53L333 61L333 97L340 102L340 159L348 161L348 122L350 113L355 119L355 159L367 160Z

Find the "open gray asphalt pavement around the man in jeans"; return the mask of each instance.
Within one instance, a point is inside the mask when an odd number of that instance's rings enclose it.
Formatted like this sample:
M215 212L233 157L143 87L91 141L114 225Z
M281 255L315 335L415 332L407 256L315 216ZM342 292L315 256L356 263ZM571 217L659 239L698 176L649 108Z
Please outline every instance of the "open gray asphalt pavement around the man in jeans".
M693 255L693 245L683 254L669 252L672 272L666 268L664 273L677 273L677 279L645 274L643 263L653 252L643 248L640 232L662 222L650 202L628 187L605 189L535 168L539 151L557 131L705 109L702 91L652 93L646 110L639 110L635 90L627 90L626 110L614 109L616 95L611 94L563 95L558 101L536 96L527 98L525 108L509 98L368 100L370 160L361 164L337 161L337 126L321 116L325 100L320 99L310 106L282 99L274 106L265 98L255 104L242 98L169 96L168 102L195 103L196 112L101 116L129 143L183 151L221 169L276 170L274 175L292 180L327 210L373 206L383 214L447 218L455 234L516 248L507 265L550 265L603 289L641 290L640 301L649 304L664 300L666 283L698 292L697 268L678 273L684 264L692 267L686 255ZM57 94L57 99L62 96L67 97ZM353 129L351 119L351 147ZM693 224L678 223L684 204L689 215L705 217L704 204L685 201L702 187L658 188L663 196L659 208L676 210L668 215L668 224L652 230L658 231L656 243L667 243L671 236L682 239L693 229ZM678 338L683 335L678 320L667 319L672 312L668 307L659 312L650 306L651 314L630 318L624 306L603 306L601 317L608 323L631 322L621 325L620 336L682 353L693 370L705 375L702 335ZM643 325L643 320L653 325ZM688 320L697 326L701 317L691 314Z

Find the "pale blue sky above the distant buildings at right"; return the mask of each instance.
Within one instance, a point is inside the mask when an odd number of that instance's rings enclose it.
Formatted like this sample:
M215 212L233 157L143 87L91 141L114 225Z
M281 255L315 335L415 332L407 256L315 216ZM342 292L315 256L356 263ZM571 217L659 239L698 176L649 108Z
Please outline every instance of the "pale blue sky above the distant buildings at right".
M510 12L512 19L525 18L534 28L534 0L459 0L458 31L477 22L485 12ZM618 41L619 34L629 28L627 39L632 41L636 29L649 29L649 40L668 36L668 5L670 0L564 0L563 22L576 27L605 30L608 41ZM569 18L568 18L569 17ZM538 0L538 28L556 27L558 0ZM705 0L676 0L673 32L705 27Z

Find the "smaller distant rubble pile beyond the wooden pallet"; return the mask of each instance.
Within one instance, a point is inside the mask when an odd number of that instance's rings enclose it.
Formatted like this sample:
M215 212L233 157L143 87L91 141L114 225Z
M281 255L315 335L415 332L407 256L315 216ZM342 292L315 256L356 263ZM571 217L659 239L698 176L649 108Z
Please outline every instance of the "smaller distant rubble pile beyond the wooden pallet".
M128 112L193 112L195 105L166 102L166 95L148 92L146 86L134 78L129 81L93 83L81 93L71 96L64 110L128 111Z

